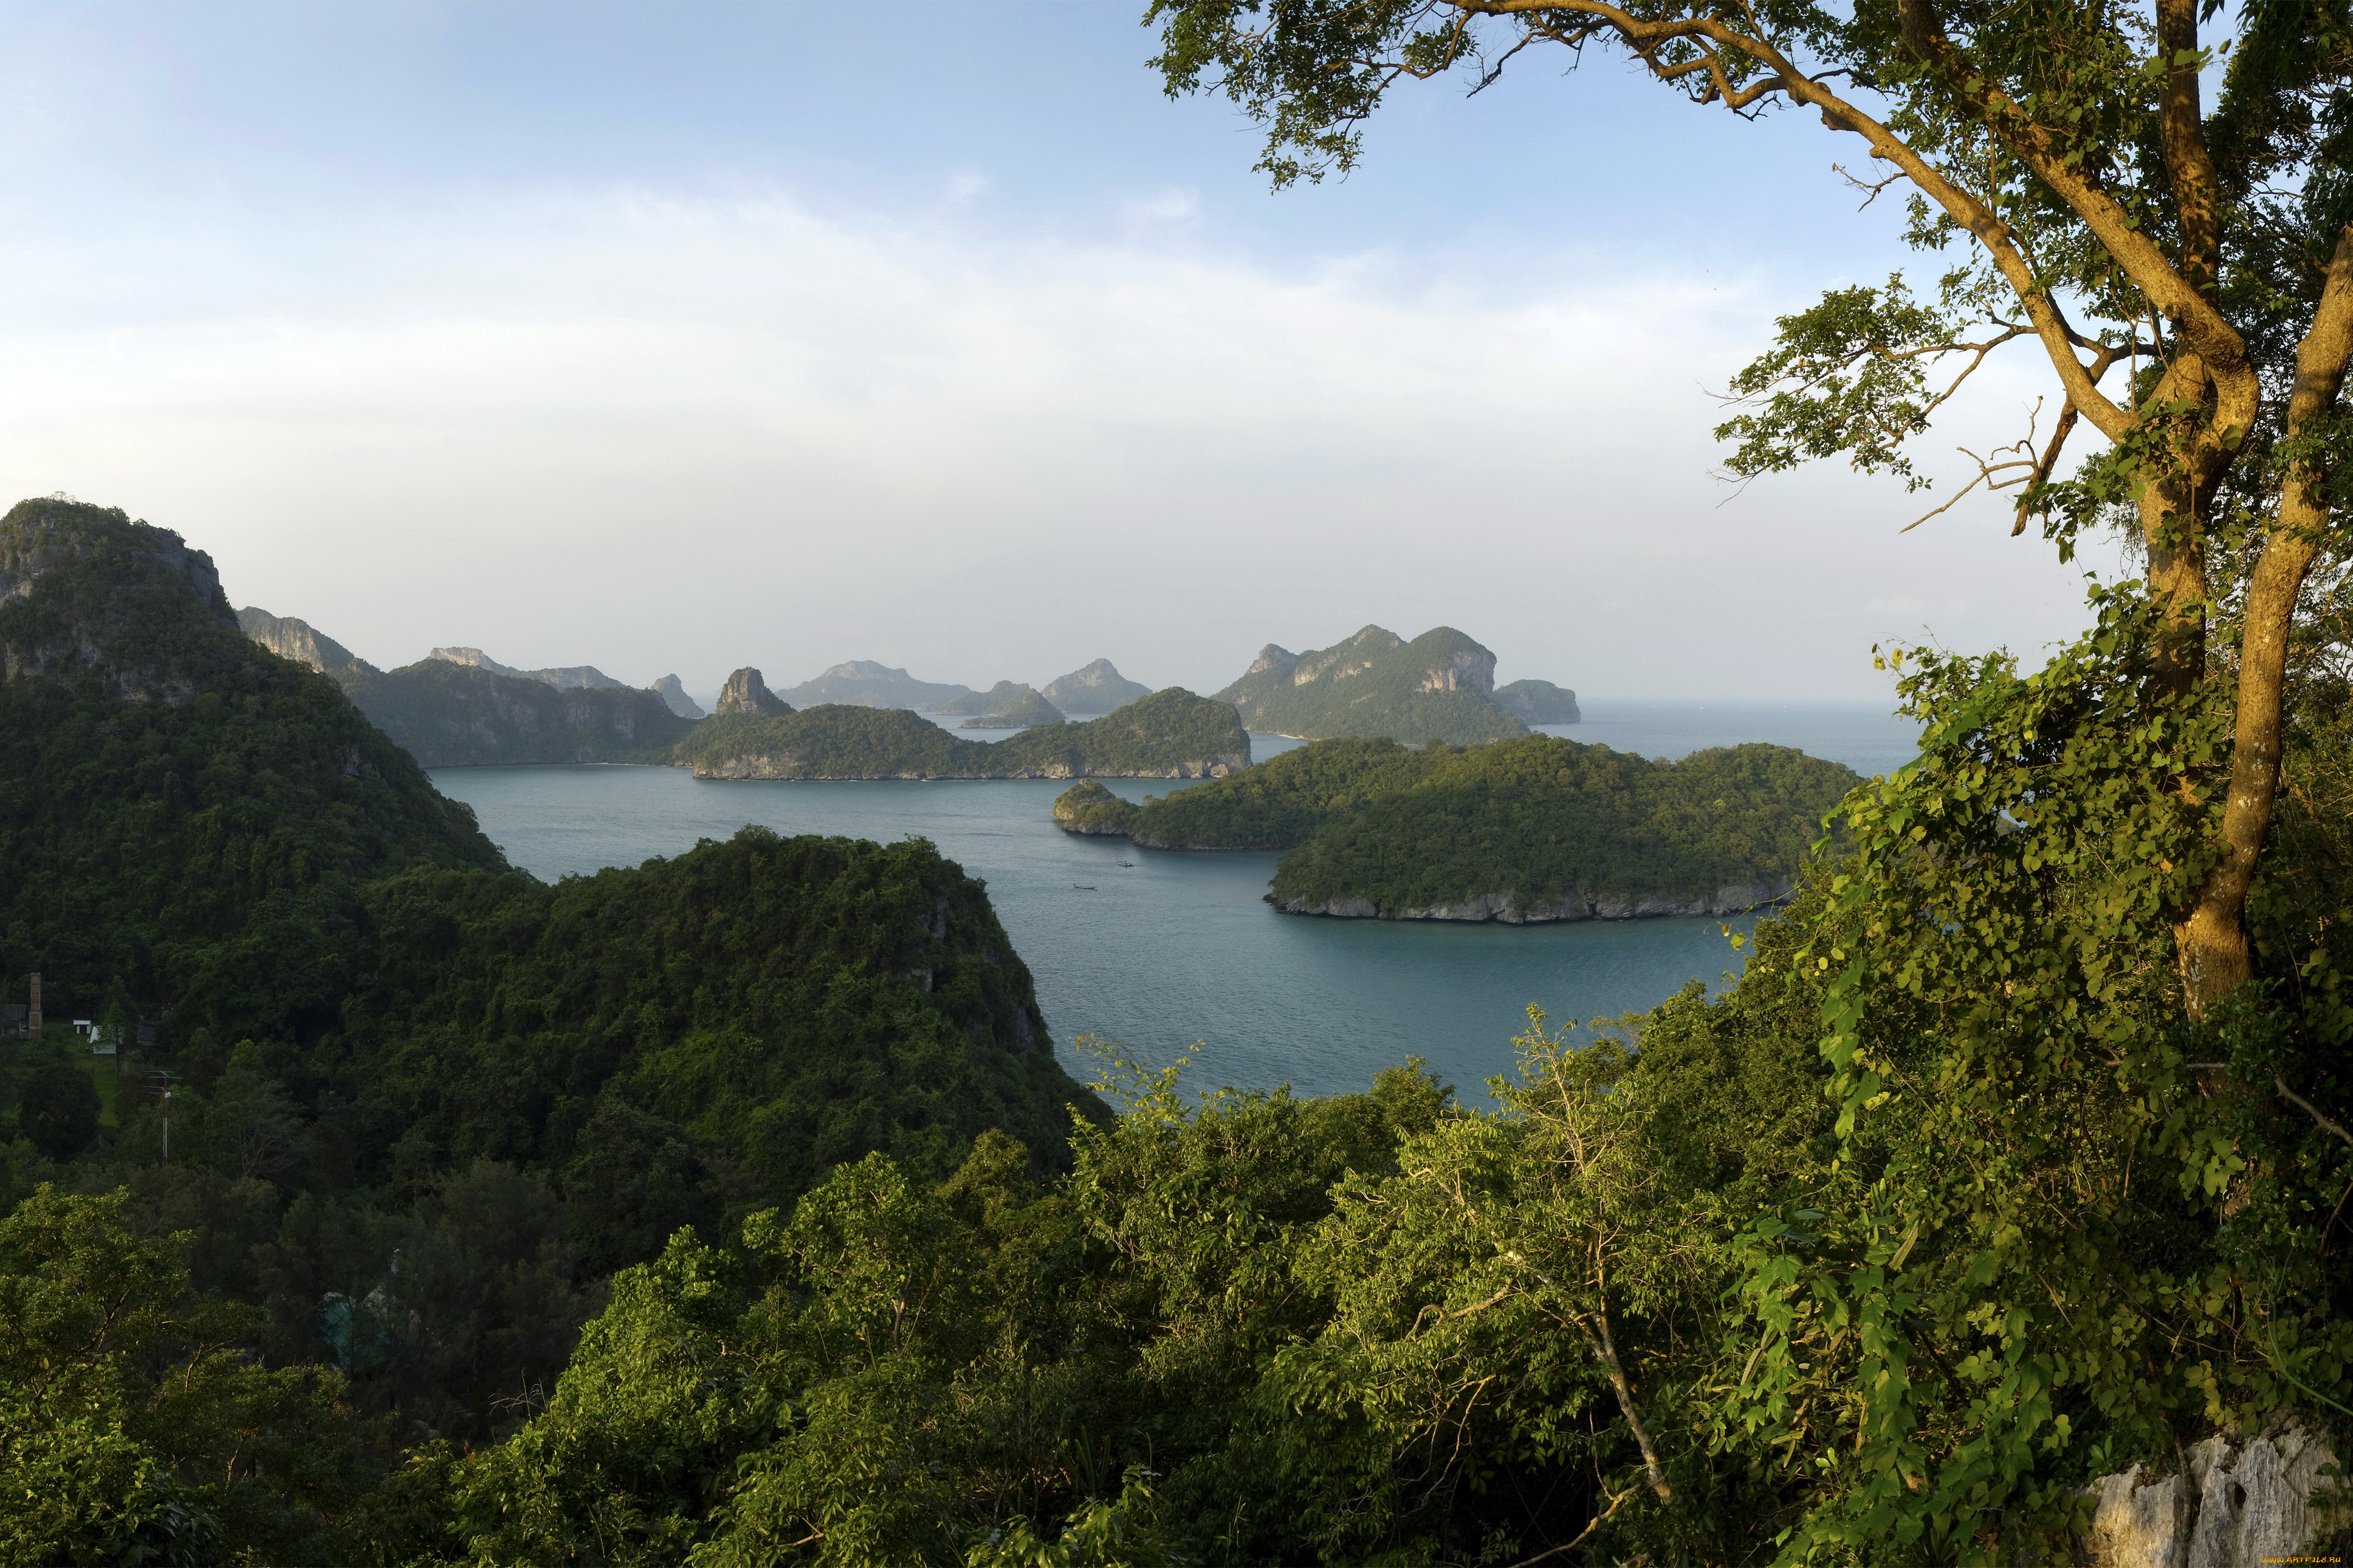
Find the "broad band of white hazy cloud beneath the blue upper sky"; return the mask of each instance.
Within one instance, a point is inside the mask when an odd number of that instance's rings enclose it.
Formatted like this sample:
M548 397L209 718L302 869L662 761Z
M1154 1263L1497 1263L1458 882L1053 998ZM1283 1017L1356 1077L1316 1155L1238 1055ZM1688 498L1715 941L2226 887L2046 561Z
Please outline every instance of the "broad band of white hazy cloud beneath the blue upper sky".
M2075 623L2073 576L1969 503L1908 538L1845 475L1720 505L1699 388L1788 299L1127 235L586 190L268 252L19 242L0 287L47 308L0 324L0 484L176 527L240 604L379 663L471 642L689 686L1108 654L1214 689L1266 639L1445 621L1506 679L1835 696L1882 689L1868 642L1920 614L1958 644Z

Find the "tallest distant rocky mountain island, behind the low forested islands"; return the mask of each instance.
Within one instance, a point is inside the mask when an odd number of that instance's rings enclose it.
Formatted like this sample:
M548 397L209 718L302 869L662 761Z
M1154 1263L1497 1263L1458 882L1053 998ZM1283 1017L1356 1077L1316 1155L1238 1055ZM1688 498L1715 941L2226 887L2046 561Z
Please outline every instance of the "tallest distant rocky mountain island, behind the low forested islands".
M1320 741L1506 741L1527 724L1494 701L1494 654L1452 625L1405 642L1367 625L1329 649L1266 644L1242 679L1217 693L1249 729Z

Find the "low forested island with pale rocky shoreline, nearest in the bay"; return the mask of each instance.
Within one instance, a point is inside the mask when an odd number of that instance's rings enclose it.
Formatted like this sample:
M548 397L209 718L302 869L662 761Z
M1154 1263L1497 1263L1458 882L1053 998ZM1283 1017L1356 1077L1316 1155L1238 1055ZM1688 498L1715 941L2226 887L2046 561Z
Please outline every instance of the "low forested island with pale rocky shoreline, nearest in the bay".
M1282 849L1289 914L1537 924L1732 914L1788 898L1861 778L1781 745L1649 762L1551 736L1315 741L1132 804L1066 790L1066 832L1146 849Z

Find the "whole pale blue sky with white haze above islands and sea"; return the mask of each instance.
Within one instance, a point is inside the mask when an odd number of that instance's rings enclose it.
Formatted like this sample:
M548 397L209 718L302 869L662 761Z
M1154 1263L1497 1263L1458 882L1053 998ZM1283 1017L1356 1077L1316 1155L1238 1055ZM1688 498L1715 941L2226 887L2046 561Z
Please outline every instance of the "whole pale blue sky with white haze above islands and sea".
M1713 477L1708 390L1897 212L1617 61L1407 92L1273 195L1141 0L0 12L0 491L379 665L1207 691L1377 621L1878 696L1873 639L2085 621L2000 503ZM2014 435L2028 353L1934 451Z

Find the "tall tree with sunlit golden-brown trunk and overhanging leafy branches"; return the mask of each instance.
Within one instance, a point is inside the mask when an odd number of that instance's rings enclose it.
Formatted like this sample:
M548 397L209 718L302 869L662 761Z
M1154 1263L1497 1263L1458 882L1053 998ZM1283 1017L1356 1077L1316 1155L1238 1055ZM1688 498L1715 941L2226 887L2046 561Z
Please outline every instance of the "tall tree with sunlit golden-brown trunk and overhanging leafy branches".
M2212 19L2214 7L2205 7ZM2181 992L2254 973L2247 896L2271 827L2297 602L2332 548L2353 357L2353 24L2344 0L2257 0L2200 38L2198 0L1153 0L1169 94L1266 125L1275 183L1346 172L1400 80L1494 82L1527 49L1617 47L1697 106L1809 110L1908 183L1906 237L1960 247L1934 299L1842 289L1781 320L1732 386L1739 473L1906 447L1995 350L2042 348L2061 395L1972 482L2017 491L2068 548L2129 510L2153 611L2141 698L2226 717L2212 757L2151 783L2200 811L2167 889ZM2212 113L2202 73L2228 59ZM2122 371L2118 376L2118 371ZM2106 451L2057 463L2080 423Z

